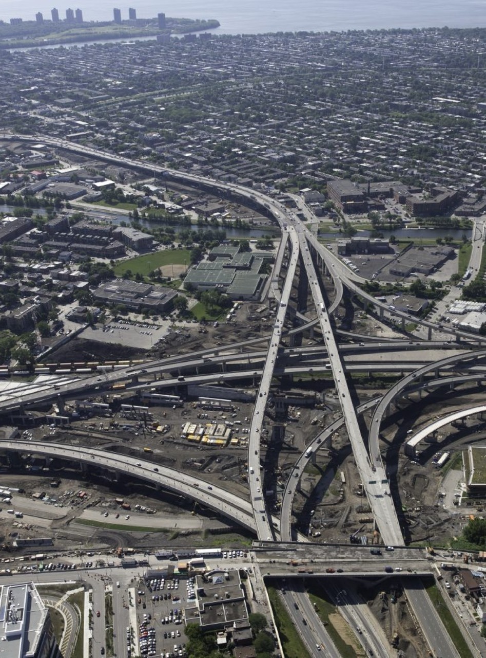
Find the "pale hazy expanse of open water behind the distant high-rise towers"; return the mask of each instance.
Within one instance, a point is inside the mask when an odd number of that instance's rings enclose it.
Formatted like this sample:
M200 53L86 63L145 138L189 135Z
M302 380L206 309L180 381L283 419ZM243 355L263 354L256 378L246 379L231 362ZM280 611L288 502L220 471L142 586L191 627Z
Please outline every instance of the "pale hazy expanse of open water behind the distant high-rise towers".
M122 10L122 18L128 18L129 7L139 18L159 12L177 18L217 18L221 27L216 32L221 34L486 26L484 0L1 0L0 20L34 20L38 11L51 18L53 7L60 18L68 7L79 7L85 21L113 20L114 7Z

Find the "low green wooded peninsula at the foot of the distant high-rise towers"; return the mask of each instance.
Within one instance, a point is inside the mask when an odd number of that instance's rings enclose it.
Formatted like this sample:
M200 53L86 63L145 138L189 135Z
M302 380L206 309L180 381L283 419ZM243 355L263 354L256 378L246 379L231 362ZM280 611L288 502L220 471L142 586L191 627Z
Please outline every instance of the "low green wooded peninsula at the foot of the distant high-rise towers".
M24 22L22 27L28 29L35 22ZM49 23L47 23L49 26ZM167 18L167 29L160 30L152 21L146 21L143 26L117 25L106 22L93 22L79 26L66 26L64 32L50 32L36 36L18 36L9 38L8 28L5 24L1 26L3 34L0 35L0 50L11 50L19 48L39 48L43 46L66 45L74 43L83 43L85 41L110 41L120 39L137 39L139 37L158 37L162 34L177 35L188 34L190 32L204 32L205 30L215 30L219 28L218 20L190 20L188 18ZM7 30L5 30L7 28ZM13 32L14 30L12 30ZM35 31L35 30L33 30Z

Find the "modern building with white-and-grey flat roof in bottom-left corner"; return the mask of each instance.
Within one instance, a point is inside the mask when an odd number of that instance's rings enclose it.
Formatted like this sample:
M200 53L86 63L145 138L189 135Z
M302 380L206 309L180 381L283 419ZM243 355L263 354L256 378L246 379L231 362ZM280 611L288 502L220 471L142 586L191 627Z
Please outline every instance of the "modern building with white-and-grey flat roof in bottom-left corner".
M33 582L0 592L1 652L9 658L61 658L49 609Z

